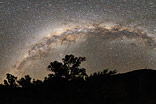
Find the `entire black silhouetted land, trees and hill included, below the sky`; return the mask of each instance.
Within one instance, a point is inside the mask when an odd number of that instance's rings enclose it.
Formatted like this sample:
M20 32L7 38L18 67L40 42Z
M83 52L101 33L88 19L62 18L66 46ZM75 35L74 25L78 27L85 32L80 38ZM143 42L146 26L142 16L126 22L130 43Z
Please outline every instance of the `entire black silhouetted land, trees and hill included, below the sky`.
M1 104L156 104L156 71L125 74L103 70L87 75L85 57L66 55L48 66L43 81L7 74L0 85Z

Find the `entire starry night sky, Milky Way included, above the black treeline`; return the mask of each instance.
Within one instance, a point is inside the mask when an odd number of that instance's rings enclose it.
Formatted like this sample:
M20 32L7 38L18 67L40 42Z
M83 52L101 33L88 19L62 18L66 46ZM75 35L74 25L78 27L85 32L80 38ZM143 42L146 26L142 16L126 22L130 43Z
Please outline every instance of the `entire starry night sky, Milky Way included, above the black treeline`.
M66 54L88 73L156 69L155 0L0 0L0 78L42 79Z

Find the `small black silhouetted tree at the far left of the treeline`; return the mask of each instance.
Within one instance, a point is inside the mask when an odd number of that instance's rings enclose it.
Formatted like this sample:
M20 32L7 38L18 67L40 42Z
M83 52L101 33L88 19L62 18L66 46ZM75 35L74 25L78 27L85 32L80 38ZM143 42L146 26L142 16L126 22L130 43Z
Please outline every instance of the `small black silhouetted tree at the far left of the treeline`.
M15 77L11 74L6 74L6 79L4 80L4 85L5 85L5 87L16 88L18 86L16 81L17 81L17 77Z

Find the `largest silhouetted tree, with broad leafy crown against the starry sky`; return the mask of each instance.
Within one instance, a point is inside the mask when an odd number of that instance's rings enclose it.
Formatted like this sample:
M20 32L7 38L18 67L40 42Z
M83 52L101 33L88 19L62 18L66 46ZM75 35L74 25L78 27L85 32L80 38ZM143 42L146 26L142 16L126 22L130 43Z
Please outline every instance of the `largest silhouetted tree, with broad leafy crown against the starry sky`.
M87 76L86 69L80 68L81 62L85 60L85 57L66 55L65 58L62 59L62 63L58 61L51 62L48 69L54 73L52 76L57 78L65 78L68 80L85 78Z

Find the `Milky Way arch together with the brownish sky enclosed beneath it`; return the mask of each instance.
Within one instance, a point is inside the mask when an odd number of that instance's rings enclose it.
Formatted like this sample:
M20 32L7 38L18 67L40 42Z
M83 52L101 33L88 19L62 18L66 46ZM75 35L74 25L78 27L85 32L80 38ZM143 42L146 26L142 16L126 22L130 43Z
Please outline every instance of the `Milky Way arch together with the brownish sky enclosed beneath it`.
M66 54L87 57L83 66L88 73L104 68L119 72L155 68L155 48L154 36L138 28L97 24L67 27L33 44L11 73L43 78L49 73L46 66Z

